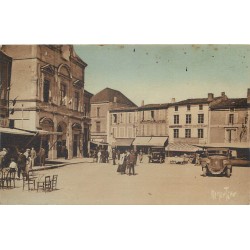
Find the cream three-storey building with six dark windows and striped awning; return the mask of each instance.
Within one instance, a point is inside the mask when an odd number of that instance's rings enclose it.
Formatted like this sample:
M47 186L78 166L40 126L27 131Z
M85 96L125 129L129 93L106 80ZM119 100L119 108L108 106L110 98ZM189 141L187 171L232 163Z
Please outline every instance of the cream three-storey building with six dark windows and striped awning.
M209 106L226 100L222 92L220 97L212 93L207 98L186 99L171 103L168 108L169 146L171 152L194 152L193 145L209 142Z

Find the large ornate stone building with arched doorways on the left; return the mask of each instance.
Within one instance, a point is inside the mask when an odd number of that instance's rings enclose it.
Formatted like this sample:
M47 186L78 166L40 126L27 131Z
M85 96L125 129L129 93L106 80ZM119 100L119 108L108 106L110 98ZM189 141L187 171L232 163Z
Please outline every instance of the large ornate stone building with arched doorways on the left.
M87 64L72 45L4 45L13 58L10 100L16 105L10 115L12 126L37 132L49 158L83 155L84 72ZM86 150L86 149L85 149Z

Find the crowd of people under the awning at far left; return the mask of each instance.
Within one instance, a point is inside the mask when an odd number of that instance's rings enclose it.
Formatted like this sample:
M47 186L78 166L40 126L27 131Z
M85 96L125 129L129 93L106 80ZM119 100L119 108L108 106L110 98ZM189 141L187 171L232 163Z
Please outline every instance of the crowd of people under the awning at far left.
M8 150L3 148L0 150L0 169L9 168L12 171L17 172L17 179L20 179L21 173L32 170L35 166L35 159L39 155L41 165L45 165L45 150L41 148L37 154L34 147L31 149L27 148L26 150Z

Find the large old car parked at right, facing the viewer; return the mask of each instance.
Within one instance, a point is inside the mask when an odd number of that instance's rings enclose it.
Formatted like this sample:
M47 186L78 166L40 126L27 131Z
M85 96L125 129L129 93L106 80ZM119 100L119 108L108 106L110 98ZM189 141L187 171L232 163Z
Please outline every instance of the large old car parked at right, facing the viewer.
M227 148L208 148L206 157L201 159L203 176L232 174L232 164L230 161L230 150Z

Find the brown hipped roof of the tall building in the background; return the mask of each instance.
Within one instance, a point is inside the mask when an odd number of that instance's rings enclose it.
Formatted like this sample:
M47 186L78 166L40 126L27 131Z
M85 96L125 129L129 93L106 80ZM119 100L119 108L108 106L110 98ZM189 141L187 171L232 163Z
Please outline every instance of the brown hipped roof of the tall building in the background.
M135 105L120 91L111 88L105 88L102 91L98 92L91 98L90 102L91 103L114 102L115 97L116 97L116 102L119 104L124 104L124 106L137 107L137 105Z

